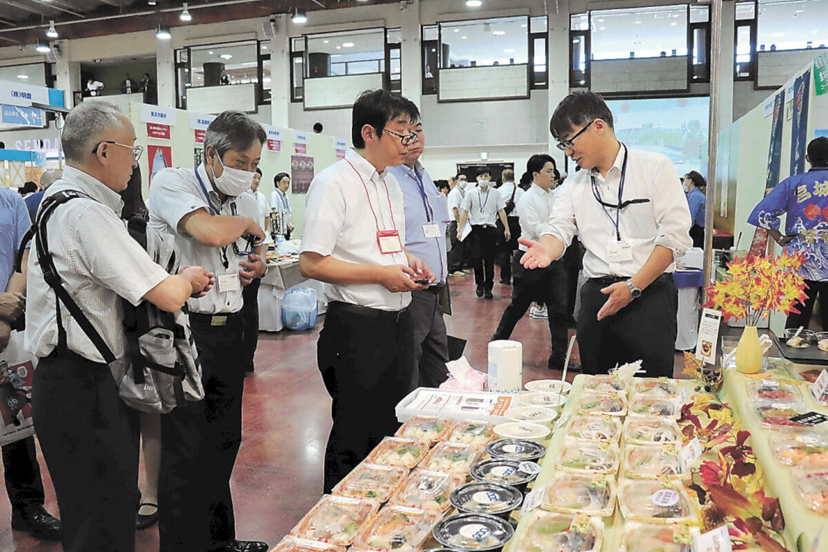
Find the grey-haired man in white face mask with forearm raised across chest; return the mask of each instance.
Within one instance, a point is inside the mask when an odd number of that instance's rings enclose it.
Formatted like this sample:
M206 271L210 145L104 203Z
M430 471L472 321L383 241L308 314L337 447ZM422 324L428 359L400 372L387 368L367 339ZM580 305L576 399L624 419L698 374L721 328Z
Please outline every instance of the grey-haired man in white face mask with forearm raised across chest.
M217 284L187 303L205 399L161 417L161 552L267 550L236 540L230 495L242 440L242 288L267 271L258 206L244 192L266 136L244 113L225 111L207 127L203 165L161 170L152 180L150 224L175 237L182 266L207 267Z

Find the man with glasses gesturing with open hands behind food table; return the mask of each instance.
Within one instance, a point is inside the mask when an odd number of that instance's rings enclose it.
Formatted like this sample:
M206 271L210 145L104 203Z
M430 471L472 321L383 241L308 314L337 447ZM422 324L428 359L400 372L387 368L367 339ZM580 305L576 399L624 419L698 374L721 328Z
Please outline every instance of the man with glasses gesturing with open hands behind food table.
M613 114L591 92L570 94L549 123L558 147L585 170L561 186L537 242L521 239L527 268L548 266L575 232L586 247L578 348L586 373L643 361L649 377L673 375L677 257L691 247L690 210L667 156L628 150Z

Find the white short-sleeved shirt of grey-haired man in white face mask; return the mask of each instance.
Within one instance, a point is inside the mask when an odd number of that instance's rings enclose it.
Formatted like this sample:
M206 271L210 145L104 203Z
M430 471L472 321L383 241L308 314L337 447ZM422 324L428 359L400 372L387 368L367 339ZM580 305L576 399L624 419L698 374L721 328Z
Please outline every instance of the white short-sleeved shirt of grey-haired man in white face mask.
M242 298L242 286L239 282L238 288L221 290L219 276L233 274L238 275L239 262L247 261L246 255L239 254L248 248L248 242L238 238L235 246L230 244L227 247L207 247L198 240L186 233L179 233L178 223L186 214L198 209L205 209L208 213L213 211L210 204L219 207L218 214L224 215L245 215L253 220L258 219L258 207L256 200L251 194L241 194L235 198L228 198L221 203L219 194L213 190L205 170L204 164L198 166L201 182L209 194L205 197L199 180L195 178L193 169L164 169L152 177L152 187L147 206L150 211L150 226L159 233L171 234L176 239L176 248L181 252L181 266L204 266L208 272L213 272L216 285L207 295L198 299L187 300L187 307L190 312L198 314L229 314L241 310L244 300ZM259 226L262 221L258 222ZM238 252L236 250L238 249ZM224 266L224 262L227 266Z

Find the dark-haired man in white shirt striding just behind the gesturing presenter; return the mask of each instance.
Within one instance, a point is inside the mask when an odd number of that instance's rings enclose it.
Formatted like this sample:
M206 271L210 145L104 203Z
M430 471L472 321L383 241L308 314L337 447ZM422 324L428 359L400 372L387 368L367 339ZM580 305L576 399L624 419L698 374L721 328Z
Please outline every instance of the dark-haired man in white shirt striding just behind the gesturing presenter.
M532 175L532 187L517 202L516 210L522 238L534 241L540 238L555 204L557 169L551 156L538 154L529 158L526 170ZM518 248L527 250L522 244ZM551 353L546 367L562 370L566 360L566 275L563 262L551 262L542 268L524 268L516 258L514 264L512 302L503 311L492 339L511 337L515 324L526 314L532 301L542 303L546 305L551 337Z

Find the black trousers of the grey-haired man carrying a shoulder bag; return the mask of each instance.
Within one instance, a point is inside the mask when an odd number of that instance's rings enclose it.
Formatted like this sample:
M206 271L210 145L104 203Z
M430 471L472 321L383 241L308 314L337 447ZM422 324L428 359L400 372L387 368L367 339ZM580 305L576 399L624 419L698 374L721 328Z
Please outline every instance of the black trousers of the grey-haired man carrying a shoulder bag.
M105 364L42 358L32 415L55 484L64 552L132 552L138 485L137 410Z

